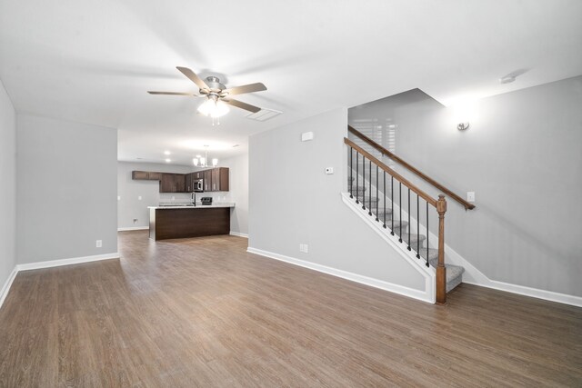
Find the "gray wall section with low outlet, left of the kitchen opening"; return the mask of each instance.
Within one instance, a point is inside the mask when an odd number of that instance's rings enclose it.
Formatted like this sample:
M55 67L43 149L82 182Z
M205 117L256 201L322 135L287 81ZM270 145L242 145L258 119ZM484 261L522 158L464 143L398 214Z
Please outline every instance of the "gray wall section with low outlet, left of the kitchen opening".
M115 254L117 131L26 114L16 127L18 264Z

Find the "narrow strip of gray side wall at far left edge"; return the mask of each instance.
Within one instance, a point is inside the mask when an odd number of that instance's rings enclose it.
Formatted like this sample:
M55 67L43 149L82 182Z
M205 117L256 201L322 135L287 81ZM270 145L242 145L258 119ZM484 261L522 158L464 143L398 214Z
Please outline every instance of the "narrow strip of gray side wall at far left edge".
M16 118L0 81L0 290L16 265Z

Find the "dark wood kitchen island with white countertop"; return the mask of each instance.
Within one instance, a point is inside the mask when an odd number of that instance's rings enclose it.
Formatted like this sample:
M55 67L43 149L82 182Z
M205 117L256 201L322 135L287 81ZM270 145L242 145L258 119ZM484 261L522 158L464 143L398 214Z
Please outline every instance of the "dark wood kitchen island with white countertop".
M148 206L149 238L200 237L230 234L230 212L235 204Z

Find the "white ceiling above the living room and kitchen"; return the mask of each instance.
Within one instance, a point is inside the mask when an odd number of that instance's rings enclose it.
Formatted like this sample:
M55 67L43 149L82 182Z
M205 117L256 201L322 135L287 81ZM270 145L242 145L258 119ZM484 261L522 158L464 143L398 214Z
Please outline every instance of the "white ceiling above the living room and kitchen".
M119 160L190 164L203 144L234 156L249 134L416 87L447 104L580 75L581 16L579 0L0 0L0 79L18 113L118 128ZM213 127L200 99L147 95L197 92L176 65L263 82L238 99L284 114L233 108Z

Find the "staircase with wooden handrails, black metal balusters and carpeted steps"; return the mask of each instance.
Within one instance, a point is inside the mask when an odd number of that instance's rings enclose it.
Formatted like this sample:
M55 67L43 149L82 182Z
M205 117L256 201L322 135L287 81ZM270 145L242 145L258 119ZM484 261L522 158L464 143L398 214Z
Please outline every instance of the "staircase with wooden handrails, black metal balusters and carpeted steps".
M445 214L447 196L465 206L467 210L475 208L457 194L452 193L442 184L421 173L401 158L386 150L380 144L348 126L350 134L356 136L357 144L348 138L344 143L348 147L349 201L361 208L375 223L374 227L384 229L395 237L398 244L403 244L410 254L416 256L419 265L434 268L436 277L436 301L446 303L447 293L461 284L463 267L445 264ZM365 148L366 147L366 148ZM445 194L433 198L408 181L402 174L384 164L379 158L387 156L413 174L423 178ZM431 220L430 208L437 211L437 238L429 232ZM433 211L434 212L434 211ZM435 214L432 214L433 223ZM421 224L422 223L422 224ZM436 240L436 241L435 241Z

